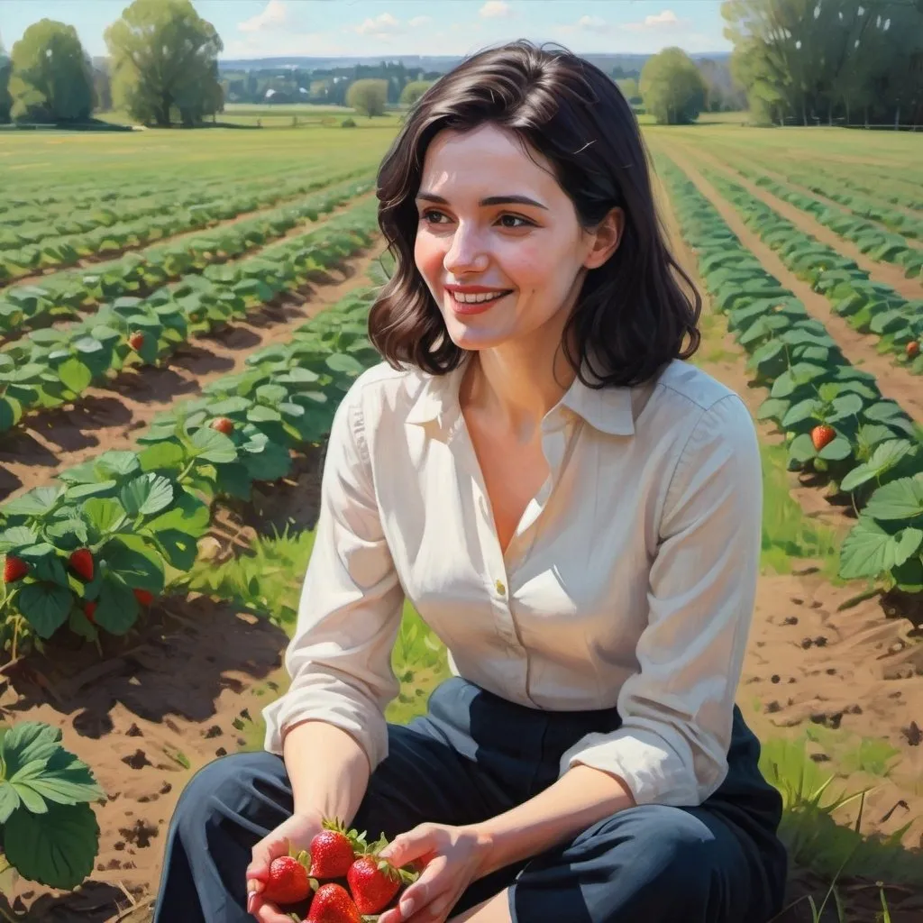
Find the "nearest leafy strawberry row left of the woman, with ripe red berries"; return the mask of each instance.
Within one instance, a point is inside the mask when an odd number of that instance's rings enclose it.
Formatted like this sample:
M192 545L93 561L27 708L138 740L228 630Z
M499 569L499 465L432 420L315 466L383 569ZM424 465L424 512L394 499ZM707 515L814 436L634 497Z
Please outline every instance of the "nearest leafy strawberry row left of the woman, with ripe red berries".
M104 452L0 507L0 555L15 578L0 617L23 619L40 641L65 624L90 640L130 630L191 569L215 497L249 497L255 481L290 472L291 450L329 432L342 395L378 361L365 325L373 294L344 297L160 414L137 451Z

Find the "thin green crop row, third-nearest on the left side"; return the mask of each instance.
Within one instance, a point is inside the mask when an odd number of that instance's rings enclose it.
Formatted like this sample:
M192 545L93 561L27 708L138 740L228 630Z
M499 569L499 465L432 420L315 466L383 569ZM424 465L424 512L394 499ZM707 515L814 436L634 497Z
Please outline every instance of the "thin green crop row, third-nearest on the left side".
M39 243L25 243L18 248L3 246L0 238L0 282L48 269L76 265L84 258L120 253L129 247L143 246L174 234L196 231L237 215L267 208L284 199L311 192L329 182L329 172L318 169L315 177L298 176L280 179L267 185L265 180L245 184L233 194L215 189L208 198L187 207L177 208L169 197L158 197L140 217L113 224L103 224L78 234L49 236ZM12 216L10 216L12 217ZM47 228L47 224L44 225ZM5 232L6 240L19 242L23 233L15 228Z

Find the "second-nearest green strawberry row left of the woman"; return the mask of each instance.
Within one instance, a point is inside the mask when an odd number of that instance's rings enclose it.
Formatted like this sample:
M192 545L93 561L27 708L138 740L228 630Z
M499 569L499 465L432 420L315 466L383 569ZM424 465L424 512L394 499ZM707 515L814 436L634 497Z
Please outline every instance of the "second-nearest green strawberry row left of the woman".
M367 182L342 188L329 202L347 201L366 188ZM117 298L83 321L35 330L8 344L0 352L0 432L30 411L78 401L94 382L126 366L161 362L191 338L297 291L366 246L374 223L369 200L253 257L186 275L146 298Z

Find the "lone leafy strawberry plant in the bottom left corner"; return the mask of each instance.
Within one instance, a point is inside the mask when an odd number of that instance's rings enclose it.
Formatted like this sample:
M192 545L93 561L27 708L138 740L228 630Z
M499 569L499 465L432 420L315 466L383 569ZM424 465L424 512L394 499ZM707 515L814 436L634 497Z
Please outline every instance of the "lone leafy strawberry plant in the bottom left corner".
M93 869L105 797L90 767L38 722L0 727L0 871L73 889Z

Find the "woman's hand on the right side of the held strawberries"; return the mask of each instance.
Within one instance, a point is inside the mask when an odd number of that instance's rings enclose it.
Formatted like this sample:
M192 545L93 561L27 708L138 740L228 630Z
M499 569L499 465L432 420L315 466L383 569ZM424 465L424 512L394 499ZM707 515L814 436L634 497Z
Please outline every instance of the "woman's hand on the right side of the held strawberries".
M423 870L402 893L400 905L378 917L378 923L442 923L483 873L487 848L475 827L423 823L396 836L381 857L398 868L414 863Z

